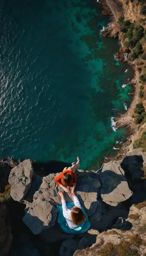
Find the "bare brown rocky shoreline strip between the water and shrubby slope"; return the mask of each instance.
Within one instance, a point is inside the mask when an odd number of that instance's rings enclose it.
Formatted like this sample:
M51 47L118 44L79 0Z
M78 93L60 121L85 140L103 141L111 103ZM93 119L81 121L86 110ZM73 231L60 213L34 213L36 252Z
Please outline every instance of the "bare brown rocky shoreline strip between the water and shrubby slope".
M111 38L118 38L118 40L121 44L121 47L119 49L119 52L116 53L117 60L127 62L135 71L133 79L129 82L129 84L134 86L134 89L135 89L130 107L125 114L121 114L120 117L114 118L114 120L116 121L116 128L126 126L131 133L131 135L129 136L129 140L127 142L123 143L120 150L117 152L117 159L121 159L121 158L125 157L126 154L132 149L133 142L136 139L137 134L138 134L138 128L137 128L137 125L133 121L131 111L135 108L135 105L138 102L139 74L138 74L138 71L136 70L134 61L130 61L127 58L129 49L124 48L124 46L122 44L122 40L121 40L122 33L119 33L120 29L119 29L117 12L118 12L118 9L121 8L122 4L120 5L119 3L116 3L116 2L112 3L112 1L110 1L110 0L102 0L101 3L104 8L103 14L110 15L112 18L112 23L109 24L105 28L105 30L102 32L102 35L105 37L108 36ZM116 6L116 5L118 5L118 6Z

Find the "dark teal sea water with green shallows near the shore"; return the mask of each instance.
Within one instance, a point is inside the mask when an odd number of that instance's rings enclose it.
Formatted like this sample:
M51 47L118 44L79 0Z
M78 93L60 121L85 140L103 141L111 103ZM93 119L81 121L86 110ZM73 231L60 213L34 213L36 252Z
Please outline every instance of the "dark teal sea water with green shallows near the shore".
M133 70L101 30L110 19L95 0L2 0L0 157L98 168L127 129L111 127L132 100ZM125 73L124 71L130 68Z

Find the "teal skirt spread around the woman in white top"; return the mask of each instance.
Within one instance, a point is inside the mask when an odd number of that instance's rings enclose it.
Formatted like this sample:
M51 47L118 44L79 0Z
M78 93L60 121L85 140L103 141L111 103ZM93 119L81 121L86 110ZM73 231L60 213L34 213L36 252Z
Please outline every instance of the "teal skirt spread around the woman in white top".
M67 206L67 208L72 208L73 206L75 206L75 204L68 203L66 206ZM64 232L69 233L69 234L80 234L80 233L85 233L89 229L90 222L88 220L88 216L87 216L84 208L83 207L81 207L81 208L82 208L82 211L84 212L86 221L81 223L80 225L78 225L76 228L73 229L68 226L66 219L63 216L62 205L57 206L57 209L58 209L57 222L59 223L60 227L62 228L62 230Z

